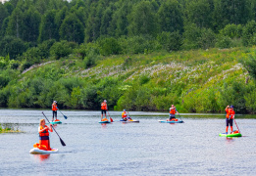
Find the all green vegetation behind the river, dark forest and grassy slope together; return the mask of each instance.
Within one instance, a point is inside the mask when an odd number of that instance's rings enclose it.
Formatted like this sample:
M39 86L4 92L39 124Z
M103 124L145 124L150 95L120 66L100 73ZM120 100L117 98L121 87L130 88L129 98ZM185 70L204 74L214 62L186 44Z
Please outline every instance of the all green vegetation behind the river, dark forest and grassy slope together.
M97 110L108 99L111 110L176 104L183 111L221 112L233 104L254 113L255 20L255 0L0 3L0 107L49 108L57 100L61 108ZM156 71L161 80L140 71L173 65L165 74ZM211 69L200 68L206 65ZM207 76L197 72L195 82L187 82L190 69ZM229 81L219 81L220 71L230 69ZM175 75L180 79L172 82Z

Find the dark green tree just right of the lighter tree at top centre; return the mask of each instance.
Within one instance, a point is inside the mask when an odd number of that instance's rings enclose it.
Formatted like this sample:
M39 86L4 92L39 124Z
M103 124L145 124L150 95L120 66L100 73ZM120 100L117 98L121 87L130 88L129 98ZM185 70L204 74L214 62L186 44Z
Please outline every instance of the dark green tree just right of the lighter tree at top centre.
M174 32L183 30L182 12L177 0L163 2L158 11L161 31Z

